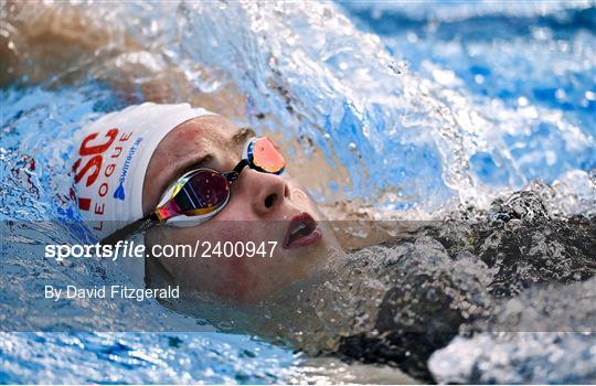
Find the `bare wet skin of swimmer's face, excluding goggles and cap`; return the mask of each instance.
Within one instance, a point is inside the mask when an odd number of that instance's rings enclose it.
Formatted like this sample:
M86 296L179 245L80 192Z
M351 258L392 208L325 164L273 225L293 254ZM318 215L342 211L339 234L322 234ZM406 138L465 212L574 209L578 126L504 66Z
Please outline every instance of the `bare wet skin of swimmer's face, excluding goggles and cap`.
M153 211L167 187L191 169L234 169L246 140L253 136L252 130L240 129L219 116L199 117L178 126L160 142L149 163L143 212ZM231 185L230 202L213 218L196 226L155 227L146 242L148 247L170 244L192 248L200 242L198 249L205 253L204 257L158 258L170 279L184 288L254 301L309 276L339 250L321 219L310 195L287 173L275 175L245 168ZM320 237L295 232L312 221L317 222ZM226 242L232 243L227 244L228 253L232 245L244 246L245 250L263 248L253 257L225 257ZM214 249L217 243L222 256ZM266 256L262 256L263 251Z

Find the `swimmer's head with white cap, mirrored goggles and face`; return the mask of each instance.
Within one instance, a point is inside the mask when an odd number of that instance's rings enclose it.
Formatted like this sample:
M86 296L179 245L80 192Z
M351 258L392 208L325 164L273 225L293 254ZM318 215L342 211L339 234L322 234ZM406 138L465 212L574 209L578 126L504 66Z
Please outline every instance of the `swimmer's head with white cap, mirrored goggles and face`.
M148 247L277 244L269 258L155 257L183 288L253 301L341 249L275 143L214 112L146 103L100 118L76 142L78 206L104 242L148 228Z

